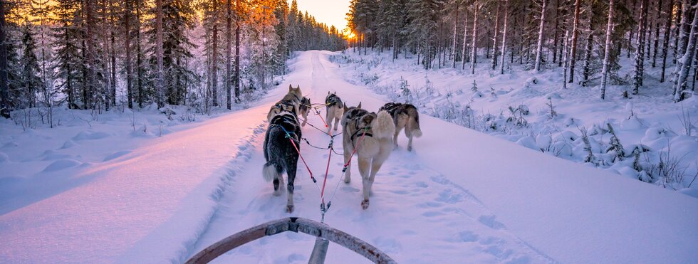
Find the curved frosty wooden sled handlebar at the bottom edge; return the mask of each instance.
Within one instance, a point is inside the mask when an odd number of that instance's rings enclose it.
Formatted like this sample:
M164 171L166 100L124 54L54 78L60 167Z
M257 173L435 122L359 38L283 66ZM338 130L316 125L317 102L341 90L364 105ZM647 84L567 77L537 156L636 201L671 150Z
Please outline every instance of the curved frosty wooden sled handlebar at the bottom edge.
M328 241L338 243L349 250L353 250L359 255L363 255L364 258L368 258L368 260L373 261L373 263L397 263L375 246L370 245L369 243L366 243L355 236L351 236L348 233L344 233L343 231L331 228L324 223L318 223L310 219L287 217L262 223L259 226L254 226L244 231L240 231L239 233L234 233L227 238L223 238L221 241L209 245L209 247L199 251L197 255L189 258L189 260L187 260L187 264L209 263L211 260L214 260L214 258L218 258L219 255L223 255L224 253L237 248L240 245L244 245L251 241L256 241L257 239L265 236L274 236L286 231L296 233L300 231L301 233L306 233L318 238L325 238Z

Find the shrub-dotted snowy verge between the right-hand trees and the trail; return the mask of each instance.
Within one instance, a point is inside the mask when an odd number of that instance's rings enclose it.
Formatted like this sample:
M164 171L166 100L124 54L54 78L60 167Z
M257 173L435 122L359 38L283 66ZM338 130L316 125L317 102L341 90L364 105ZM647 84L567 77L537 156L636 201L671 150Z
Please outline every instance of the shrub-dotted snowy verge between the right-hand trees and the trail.
M387 100L415 104L422 115L439 117L531 149L543 149L543 152L573 162L584 162L588 156L587 152L571 151L583 149L583 141L576 138L580 136L580 130L587 130L590 142L600 145L594 148L593 155L600 161L594 166L602 169L614 167L613 171L625 166L635 170L635 175L644 171L650 175L645 181L670 189L698 188L690 184L698 174L698 155L695 154L698 148L687 148L681 153L673 151L678 143L692 145L690 140L674 142L679 137L696 139L698 97L675 103L670 96L671 83L657 80L659 67L647 68L647 75L651 78L645 80L640 95L625 99L622 94L628 89L626 85L609 85L606 100L600 100L596 80L592 80L588 87L570 83L564 89L562 68L554 66L535 73L513 65L506 73L499 74L499 70L490 70L489 63L486 63L488 59L481 56L478 58L480 66L475 74L470 74L470 69L454 69L450 65L443 68L436 65L433 70L424 70L415 64L414 58L404 58L405 54L394 62L388 59L389 56L390 53L377 51L359 55L348 50L331 56L330 60L342 65L343 77L348 82L368 86L370 90L385 95ZM629 59L620 60L621 65L631 64ZM373 61L382 63L369 66ZM627 70L627 67L621 68L620 76L630 75ZM407 93L412 96L402 96L405 94L403 83L409 84ZM476 90L472 89L474 83ZM613 127L624 147L650 146L648 152L640 154L639 166L632 163L634 157L621 160L607 153L608 125ZM663 139L647 144L643 137L648 130L664 130ZM551 135L553 140L549 147L537 144L536 139L541 134ZM565 137L559 137L561 134ZM533 137L533 140L527 137ZM670 152L670 157L680 159L677 168L683 171L682 179L673 179L656 171L662 162L659 157L667 152ZM673 182L671 186L665 184L667 181Z

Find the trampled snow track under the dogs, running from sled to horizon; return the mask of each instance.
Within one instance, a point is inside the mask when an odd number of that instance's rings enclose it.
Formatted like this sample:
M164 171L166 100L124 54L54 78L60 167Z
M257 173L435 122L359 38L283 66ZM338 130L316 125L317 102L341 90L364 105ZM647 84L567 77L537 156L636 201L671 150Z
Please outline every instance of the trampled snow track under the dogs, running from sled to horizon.
M301 83L301 90L306 96L311 97L312 102L324 102L328 90L336 90L342 97L347 89L355 87L346 83L340 76L328 76L328 68L329 73L336 73L331 71L335 65L326 58L321 60L320 56L326 57L326 54L316 51L311 52L309 56L312 63L311 85L308 85L307 80L302 80L303 76L295 79ZM297 63L299 61L302 62L300 59L296 60ZM288 78L291 83L295 79ZM327 87L330 80L333 85ZM281 89L284 85L281 85ZM346 99L358 98L348 96ZM321 115L324 117L324 110L321 110ZM323 127L321 118L313 113L308 115L308 122L316 127ZM236 158L231 161L229 173L219 189L212 194L212 199L218 201L216 211L199 236L193 240L195 242L187 243L189 256L226 236L277 218L298 216L319 221L320 191L309 179L308 171L300 160L294 197L296 209L293 213L285 212L286 194L273 196L271 182L262 178L261 168L265 160L262 152L263 139L259 135L265 130L266 122L254 130L254 134L247 139L246 144L242 145L244 147L240 148ZM338 132L340 131L341 128ZM330 137L309 125L303 127L303 137L318 147L327 146L330 141ZM404 139L402 133L400 138ZM342 153L341 137L335 137L334 143L335 150ZM356 162L352 162L352 181L350 184L339 183L332 207L325 216L325 223L372 243L399 263L556 262L511 233L506 226L497 221L496 215L463 186L454 184L438 171L424 166L413 153L403 149L404 144L401 142L401 147L392 152L378 172L368 210L362 210L360 207L361 179ZM328 150L301 144L301 154L313 170L318 184L322 184L329 157ZM331 154L330 171L325 187L327 199L332 196L336 184L340 181L342 166L343 157ZM242 245L215 261L306 263L314 239L305 234L286 232ZM185 259L182 256L179 261ZM328 250L327 261L356 263L368 260L332 244Z

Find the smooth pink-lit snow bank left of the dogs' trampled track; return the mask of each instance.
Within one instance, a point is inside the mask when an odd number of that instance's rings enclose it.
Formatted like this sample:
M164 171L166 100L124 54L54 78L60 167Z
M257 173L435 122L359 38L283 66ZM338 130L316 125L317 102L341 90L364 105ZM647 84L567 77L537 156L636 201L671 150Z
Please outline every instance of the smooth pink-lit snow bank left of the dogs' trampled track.
M0 262L182 261L249 142L264 132L267 100L108 162L46 174L78 184L0 214Z

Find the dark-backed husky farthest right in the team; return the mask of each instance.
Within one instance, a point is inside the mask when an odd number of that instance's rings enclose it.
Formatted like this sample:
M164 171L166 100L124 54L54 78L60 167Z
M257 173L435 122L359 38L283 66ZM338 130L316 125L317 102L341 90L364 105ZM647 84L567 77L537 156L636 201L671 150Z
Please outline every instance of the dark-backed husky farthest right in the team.
M400 130L405 129L407 137L407 151L412 151L412 137L422 137L420 130L420 113L417 112L417 107L410 104L402 104L400 102L388 102L380 107L380 110L385 110L392 116L392 121L395 122L395 147L397 148L397 134Z

